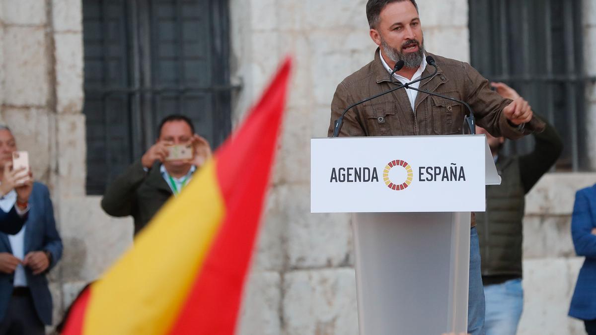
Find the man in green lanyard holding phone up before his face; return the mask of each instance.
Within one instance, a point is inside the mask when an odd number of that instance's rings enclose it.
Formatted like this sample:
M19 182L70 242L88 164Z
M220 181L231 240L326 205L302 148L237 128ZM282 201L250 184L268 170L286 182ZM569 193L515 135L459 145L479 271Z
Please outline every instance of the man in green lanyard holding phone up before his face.
M186 116L167 116L157 134L156 143L108 185L101 199L108 215L132 215L135 235L211 156L209 142L195 134Z

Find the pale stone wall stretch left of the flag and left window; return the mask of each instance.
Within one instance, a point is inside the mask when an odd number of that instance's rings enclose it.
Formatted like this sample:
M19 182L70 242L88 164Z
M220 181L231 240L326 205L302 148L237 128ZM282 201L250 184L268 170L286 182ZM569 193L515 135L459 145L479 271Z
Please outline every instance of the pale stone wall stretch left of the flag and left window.
M98 197L85 196L80 0L0 1L0 36L1 120L49 186L64 243L49 274L57 322L80 287L129 246L132 224L108 218Z

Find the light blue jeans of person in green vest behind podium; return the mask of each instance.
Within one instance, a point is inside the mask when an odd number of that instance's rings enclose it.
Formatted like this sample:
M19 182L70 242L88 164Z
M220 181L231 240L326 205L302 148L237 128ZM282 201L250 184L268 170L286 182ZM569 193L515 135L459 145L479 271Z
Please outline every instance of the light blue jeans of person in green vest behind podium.
M523 310L522 279L485 286L486 335L515 335Z

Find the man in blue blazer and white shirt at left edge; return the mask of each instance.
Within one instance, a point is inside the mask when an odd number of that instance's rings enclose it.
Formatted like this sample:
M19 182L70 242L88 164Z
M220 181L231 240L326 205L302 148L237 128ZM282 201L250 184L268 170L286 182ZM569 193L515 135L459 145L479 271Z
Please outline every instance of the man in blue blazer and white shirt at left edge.
M0 128L2 168L15 150L10 129ZM6 185L6 173L2 177L0 188ZM28 212L17 234L0 233L0 335L45 334L45 325L52 323L52 297L45 275L62 256L48 188L34 182L25 203L15 190L3 193L1 211L10 213L15 207L17 212L20 208Z

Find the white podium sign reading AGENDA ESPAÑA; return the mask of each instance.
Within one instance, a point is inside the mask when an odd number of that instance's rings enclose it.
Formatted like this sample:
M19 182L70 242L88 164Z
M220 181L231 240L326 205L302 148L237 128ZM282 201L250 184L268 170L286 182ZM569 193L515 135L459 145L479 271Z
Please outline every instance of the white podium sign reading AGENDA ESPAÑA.
M487 160L483 135L314 138L311 212L483 212Z

